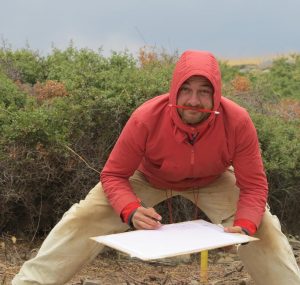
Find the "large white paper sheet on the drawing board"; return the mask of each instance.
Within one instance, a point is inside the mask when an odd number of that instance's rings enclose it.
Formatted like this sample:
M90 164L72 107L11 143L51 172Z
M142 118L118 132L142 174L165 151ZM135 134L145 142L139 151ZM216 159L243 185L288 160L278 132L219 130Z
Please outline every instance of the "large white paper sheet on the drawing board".
M221 226L204 220L163 225L158 230L137 230L92 239L142 260L200 252L257 240L247 235L225 233Z

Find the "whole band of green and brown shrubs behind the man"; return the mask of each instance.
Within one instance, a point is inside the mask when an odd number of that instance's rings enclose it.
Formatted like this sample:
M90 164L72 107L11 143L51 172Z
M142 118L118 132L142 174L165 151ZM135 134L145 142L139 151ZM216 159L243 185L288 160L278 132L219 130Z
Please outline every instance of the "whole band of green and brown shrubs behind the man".
M131 112L168 92L178 55L142 48L0 49L0 229L48 232L84 197ZM220 61L226 97L251 113L270 183L270 204L299 233L300 55L267 70Z

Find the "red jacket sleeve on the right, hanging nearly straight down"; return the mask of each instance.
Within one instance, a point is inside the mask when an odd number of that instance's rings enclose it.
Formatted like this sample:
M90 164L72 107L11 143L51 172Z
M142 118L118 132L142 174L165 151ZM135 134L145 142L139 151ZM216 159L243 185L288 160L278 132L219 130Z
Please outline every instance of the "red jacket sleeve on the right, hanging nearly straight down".
M268 184L256 129L247 114L236 128L233 167L240 189L235 220L249 220L258 228L265 211Z

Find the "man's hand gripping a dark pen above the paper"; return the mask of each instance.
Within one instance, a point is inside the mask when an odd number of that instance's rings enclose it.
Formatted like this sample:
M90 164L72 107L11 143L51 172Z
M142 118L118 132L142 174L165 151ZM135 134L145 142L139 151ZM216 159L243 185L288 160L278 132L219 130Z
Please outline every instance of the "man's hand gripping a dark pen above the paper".
M132 224L138 230L155 230L161 226L161 216L153 208L137 208Z

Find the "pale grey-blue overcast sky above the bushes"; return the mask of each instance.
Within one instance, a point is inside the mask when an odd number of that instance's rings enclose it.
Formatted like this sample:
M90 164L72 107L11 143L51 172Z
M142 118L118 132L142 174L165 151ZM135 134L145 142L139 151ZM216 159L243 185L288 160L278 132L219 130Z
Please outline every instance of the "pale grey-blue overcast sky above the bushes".
M0 0L0 37L44 55L73 40L104 55L149 45L256 57L300 51L299 11L300 0Z

